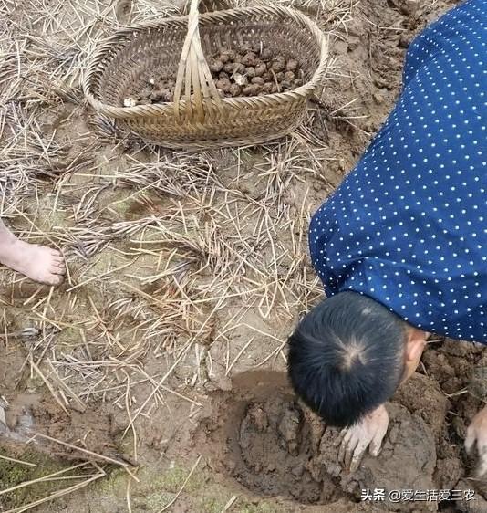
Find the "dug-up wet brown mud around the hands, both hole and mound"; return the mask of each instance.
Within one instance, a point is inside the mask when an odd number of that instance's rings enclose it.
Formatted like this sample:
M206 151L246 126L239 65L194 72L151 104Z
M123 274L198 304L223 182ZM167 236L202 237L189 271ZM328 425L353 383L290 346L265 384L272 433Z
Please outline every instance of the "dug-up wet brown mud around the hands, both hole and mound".
M455 344L430 349L424 359L442 361L449 351L455 352ZM467 353L479 354L479 348ZM480 508L484 487L464 479L471 462L457 430L465 421L451 423L451 403L438 385L441 374L436 378L416 373L400 387L387 406L389 430L381 453L377 458L365 455L353 474L337 462L339 430L326 427L298 403L281 372L244 372L233 379L231 393L215 393L212 414L202 421L195 446L206 447L215 472L232 476L245 488L285 501L326 505L322 511L332 511L344 500L352 508L361 490L375 488L475 489ZM473 406L471 399L467 403ZM475 403L472 413L479 406ZM436 511L453 508L449 504L386 500L378 506L388 511Z

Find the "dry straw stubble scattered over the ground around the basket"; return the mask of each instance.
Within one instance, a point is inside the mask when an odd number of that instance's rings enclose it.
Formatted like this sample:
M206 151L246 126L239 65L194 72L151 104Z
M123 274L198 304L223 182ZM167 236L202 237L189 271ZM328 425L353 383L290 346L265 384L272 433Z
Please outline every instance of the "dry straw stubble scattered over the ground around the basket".
M313 7L330 31L354 6L280 3ZM144 145L88 114L79 80L114 28L177 9L158 0L18 5L0 0L0 215L23 239L61 248L68 274L49 289L0 271L0 343L22 351L23 371L65 412L99 403L126 411L137 460L138 426L165 397L200 407L193 387L212 377L212 344L226 347L226 375L252 354L253 337L255 365L285 359L284 333L261 320L292 327L321 295L306 230L310 184L332 187L329 154L317 148L331 118L318 102L306 127L256 149ZM329 78L343 79L334 61ZM352 119L350 107L332 117ZM249 338L233 343L242 330ZM182 364L184 380L174 376Z

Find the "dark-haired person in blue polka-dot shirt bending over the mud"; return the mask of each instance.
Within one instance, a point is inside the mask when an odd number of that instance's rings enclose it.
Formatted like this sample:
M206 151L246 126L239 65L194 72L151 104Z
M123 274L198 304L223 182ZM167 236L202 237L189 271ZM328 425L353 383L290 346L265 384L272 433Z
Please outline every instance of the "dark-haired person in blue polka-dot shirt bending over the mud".
M289 338L295 392L347 428L340 457L378 455L384 403L430 333L487 343L487 0L470 0L409 47L398 102L313 216L326 298ZM460 343L460 342L459 342ZM487 408L468 428L487 471Z

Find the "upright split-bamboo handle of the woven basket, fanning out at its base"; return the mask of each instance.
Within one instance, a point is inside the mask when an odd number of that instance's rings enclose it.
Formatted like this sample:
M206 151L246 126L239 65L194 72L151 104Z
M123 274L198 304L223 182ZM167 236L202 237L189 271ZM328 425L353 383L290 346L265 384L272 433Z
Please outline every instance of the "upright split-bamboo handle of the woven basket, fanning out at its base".
M206 115L214 116L223 109L222 99L212 78L212 72L202 52L198 5L192 0L188 16L188 34L182 46L180 65L174 89L174 112L181 116L181 100L189 120L203 122ZM215 112L216 107L216 112Z

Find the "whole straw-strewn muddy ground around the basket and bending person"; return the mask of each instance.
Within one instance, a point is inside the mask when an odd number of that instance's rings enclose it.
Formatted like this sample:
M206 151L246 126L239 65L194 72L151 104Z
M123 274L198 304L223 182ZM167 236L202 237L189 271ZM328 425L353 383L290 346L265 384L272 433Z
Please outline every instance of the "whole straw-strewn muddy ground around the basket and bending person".
M309 216L391 109L410 39L453 3L294 4L331 44L306 126L264 147L185 153L122 137L79 90L100 38L177 6L0 2L0 213L24 239L60 247L69 271L51 290L0 269L0 456L31 464L0 461L1 489L15 487L1 510L438 507L358 504L374 487L471 487L474 506L440 509L487 510L461 448L481 406L465 393L481 349L431 344L389 405L382 455L353 476L336 463L337 432L284 374L286 336L321 297Z

